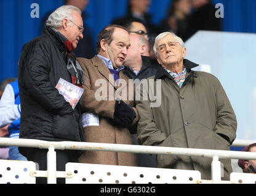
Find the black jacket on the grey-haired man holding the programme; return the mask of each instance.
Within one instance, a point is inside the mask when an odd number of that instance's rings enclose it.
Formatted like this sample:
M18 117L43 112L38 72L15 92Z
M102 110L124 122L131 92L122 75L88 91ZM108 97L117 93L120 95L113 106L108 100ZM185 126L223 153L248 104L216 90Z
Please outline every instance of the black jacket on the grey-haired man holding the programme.
M66 47L50 28L23 46L18 67L20 138L84 141L79 104L74 110L55 89L60 78L71 83Z

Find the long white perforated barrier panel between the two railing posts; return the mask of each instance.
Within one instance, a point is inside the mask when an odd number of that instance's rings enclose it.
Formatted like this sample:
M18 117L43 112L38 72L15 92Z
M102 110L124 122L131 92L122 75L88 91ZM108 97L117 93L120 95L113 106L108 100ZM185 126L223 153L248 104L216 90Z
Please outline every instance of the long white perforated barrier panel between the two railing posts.
M201 173L191 170L100 164L66 164L66 184L195 184Z

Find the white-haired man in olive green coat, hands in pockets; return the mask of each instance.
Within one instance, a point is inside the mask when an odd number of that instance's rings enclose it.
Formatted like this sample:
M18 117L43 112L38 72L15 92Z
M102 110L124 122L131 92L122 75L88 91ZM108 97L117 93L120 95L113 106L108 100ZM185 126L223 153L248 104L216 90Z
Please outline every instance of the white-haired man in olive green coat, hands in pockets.
M154 52L161 67L147 80L149 85L153 81L154 92L161 88L161 104L153 105L150 99L137 101L138 143L229 150L236 138L237 122L220 81L214 75L191 70L198 64L184 59L185 45L172 32L156 37ZM145 95L144 88L140 89L140 95ZM229 180L231 160L220 161L224 165L222 179ZM211 179L210 158L158 155L157 162L160 168L198 170L202 179Z

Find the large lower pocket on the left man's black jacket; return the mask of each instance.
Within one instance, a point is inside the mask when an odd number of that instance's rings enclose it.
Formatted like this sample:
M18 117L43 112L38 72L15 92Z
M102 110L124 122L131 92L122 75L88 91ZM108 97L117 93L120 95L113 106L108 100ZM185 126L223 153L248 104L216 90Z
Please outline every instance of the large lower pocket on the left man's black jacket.
M79 141L79 127L74 115L54 116L52 129L57 138Z

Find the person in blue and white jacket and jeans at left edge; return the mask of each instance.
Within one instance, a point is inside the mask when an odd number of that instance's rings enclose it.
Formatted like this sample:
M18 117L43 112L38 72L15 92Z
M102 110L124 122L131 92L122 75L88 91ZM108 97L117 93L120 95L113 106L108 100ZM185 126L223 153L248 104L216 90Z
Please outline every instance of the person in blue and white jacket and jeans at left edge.
M6 85L0 100L0 126L10 124L9 130L10 138L18 138L20 134L20 96L18 92L18 80ZM17 146L9 147L10 160L27 160L18 152Z

